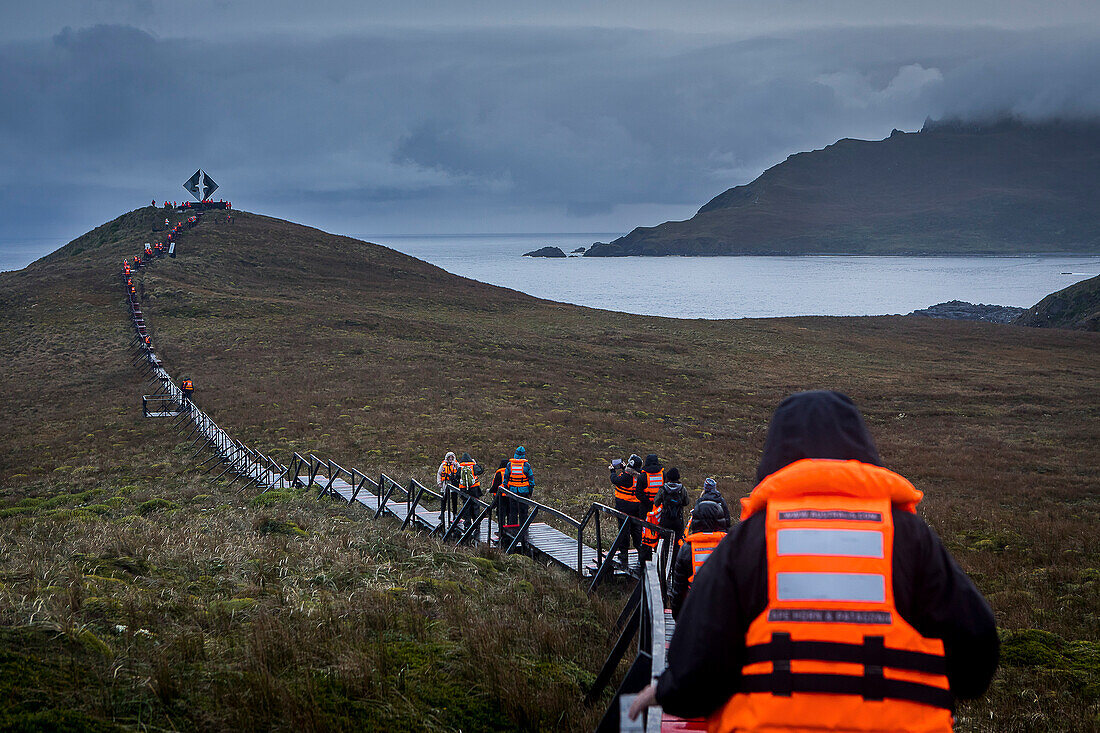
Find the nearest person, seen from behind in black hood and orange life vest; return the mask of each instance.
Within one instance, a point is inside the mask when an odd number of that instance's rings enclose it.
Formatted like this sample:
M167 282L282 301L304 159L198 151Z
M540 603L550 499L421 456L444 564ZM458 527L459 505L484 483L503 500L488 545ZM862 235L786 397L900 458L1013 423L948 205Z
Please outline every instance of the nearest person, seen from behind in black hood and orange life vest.
M950 731L999 641L989 604L881 467L847 396L772 416L741 522L695 576L656 700L711 731Z

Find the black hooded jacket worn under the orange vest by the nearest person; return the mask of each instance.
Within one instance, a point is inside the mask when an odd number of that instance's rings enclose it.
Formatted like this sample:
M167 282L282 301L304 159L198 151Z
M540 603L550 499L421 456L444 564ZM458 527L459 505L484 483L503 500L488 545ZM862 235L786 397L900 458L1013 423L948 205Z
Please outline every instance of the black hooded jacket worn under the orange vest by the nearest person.
M757 470L758 485L766 479L774 482L784 469L799 469L792 466L795 462L814 466L814 461L803 459L835 459L820 461L833 467L849 466L840 463L849 461L855 469L868 467L868 473L888 473L875 468L882 461L859 411L850 398L836 392L803 392L780 404L765 441ZM746 511L752 499L745 501ZM949 686L947 697L976 698L986 691L997 669L1000 643L993 614L914 507L915 502L911 506L891 505L893 606L921 637L942 639ZM654 701L669 713L683 718L708 716L719 711L725 714L735 694L746 697L741 689L741 670L747 664L746 634L750 623L757 623L769 605L767 515L767 511L751 513L700 569L668 649L668 667L654 685L638 696L630 709L631 718ZM795 624L813 628L827 625ZM791 698L767 700L778 707ZM827 710L827 705L823 702L821 709ZM813 725L805 727L810 730Z

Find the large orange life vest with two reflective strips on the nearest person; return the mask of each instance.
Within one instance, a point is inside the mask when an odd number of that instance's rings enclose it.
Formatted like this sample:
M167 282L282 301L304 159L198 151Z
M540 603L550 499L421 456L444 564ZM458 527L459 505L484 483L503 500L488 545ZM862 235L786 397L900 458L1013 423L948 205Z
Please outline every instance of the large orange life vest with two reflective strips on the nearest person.
M877 466L803 459L741 500L743 519L767 512L768 605L710 731L952 730L944 643L894 605L891 507L922 496Z

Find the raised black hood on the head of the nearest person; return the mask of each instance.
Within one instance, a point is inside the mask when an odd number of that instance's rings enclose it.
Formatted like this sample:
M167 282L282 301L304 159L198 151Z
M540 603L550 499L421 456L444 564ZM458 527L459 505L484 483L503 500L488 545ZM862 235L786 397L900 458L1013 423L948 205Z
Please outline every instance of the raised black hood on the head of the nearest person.
M776 408L757 468L757 483L803 458L835 458L882 466L864 416L848 395L799 392Z

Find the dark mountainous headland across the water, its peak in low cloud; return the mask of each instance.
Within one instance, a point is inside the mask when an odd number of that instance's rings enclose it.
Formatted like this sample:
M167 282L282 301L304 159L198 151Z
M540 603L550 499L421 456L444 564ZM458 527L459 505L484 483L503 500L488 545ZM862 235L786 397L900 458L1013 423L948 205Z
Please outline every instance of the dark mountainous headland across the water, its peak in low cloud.
M798 153L585 256L1100 252L1100 120L932 122Z

